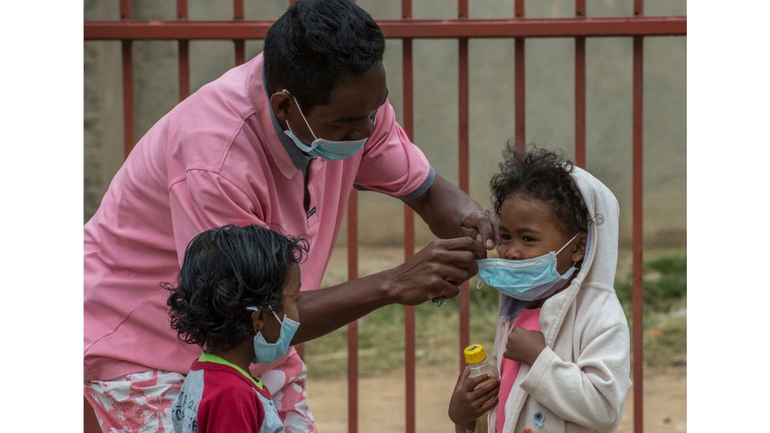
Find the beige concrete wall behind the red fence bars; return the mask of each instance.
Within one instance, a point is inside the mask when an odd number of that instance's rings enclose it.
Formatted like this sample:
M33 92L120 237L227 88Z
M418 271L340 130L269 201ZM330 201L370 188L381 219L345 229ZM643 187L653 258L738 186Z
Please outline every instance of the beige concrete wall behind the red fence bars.
M116 2L85 2L86 19L115 19ZM400 18L398 0L360 0L374 18ZM471 18L513 15L510 0L474 0ZM246 2L247 19L274 19L288 2ZM629 0L588 0L589 16L630 16ZM647 15L685 15L684 0L647 0ZM133 2L138 19L173 19L175 2ZM423 0L414 18L454 18L456 1ZM530 17L571 17L574 2L530 0ZM191 1L191 19L229 19L232 2ZM631 38L590 38L586 47L588 169L621 204L621 242L631 239ZM119 42L85 43L85 208L90 218L122 159ZM246 43L246 57L262 49ZM457 42L417 40L414 52L414 141L440 175L457 182ZM177 102L176 42L135 42L136 138ZM470 41L470 192L488 205L488 181L500 150L514 135L514 44ZM574 42L531 39L526 48L527 142L574 155ZM234 64L232 42L191 42L194 92ZM401 42L387 41L390 102L402 113ZM644 41L644 236L647 245L679 247L686 233L686 38ZM403 206L375 193L360 194L360 241L400 245ZM393 221L383 225L382 221ZM417 222L418 245L433 238ZM344 240L344 230L340 241Z

